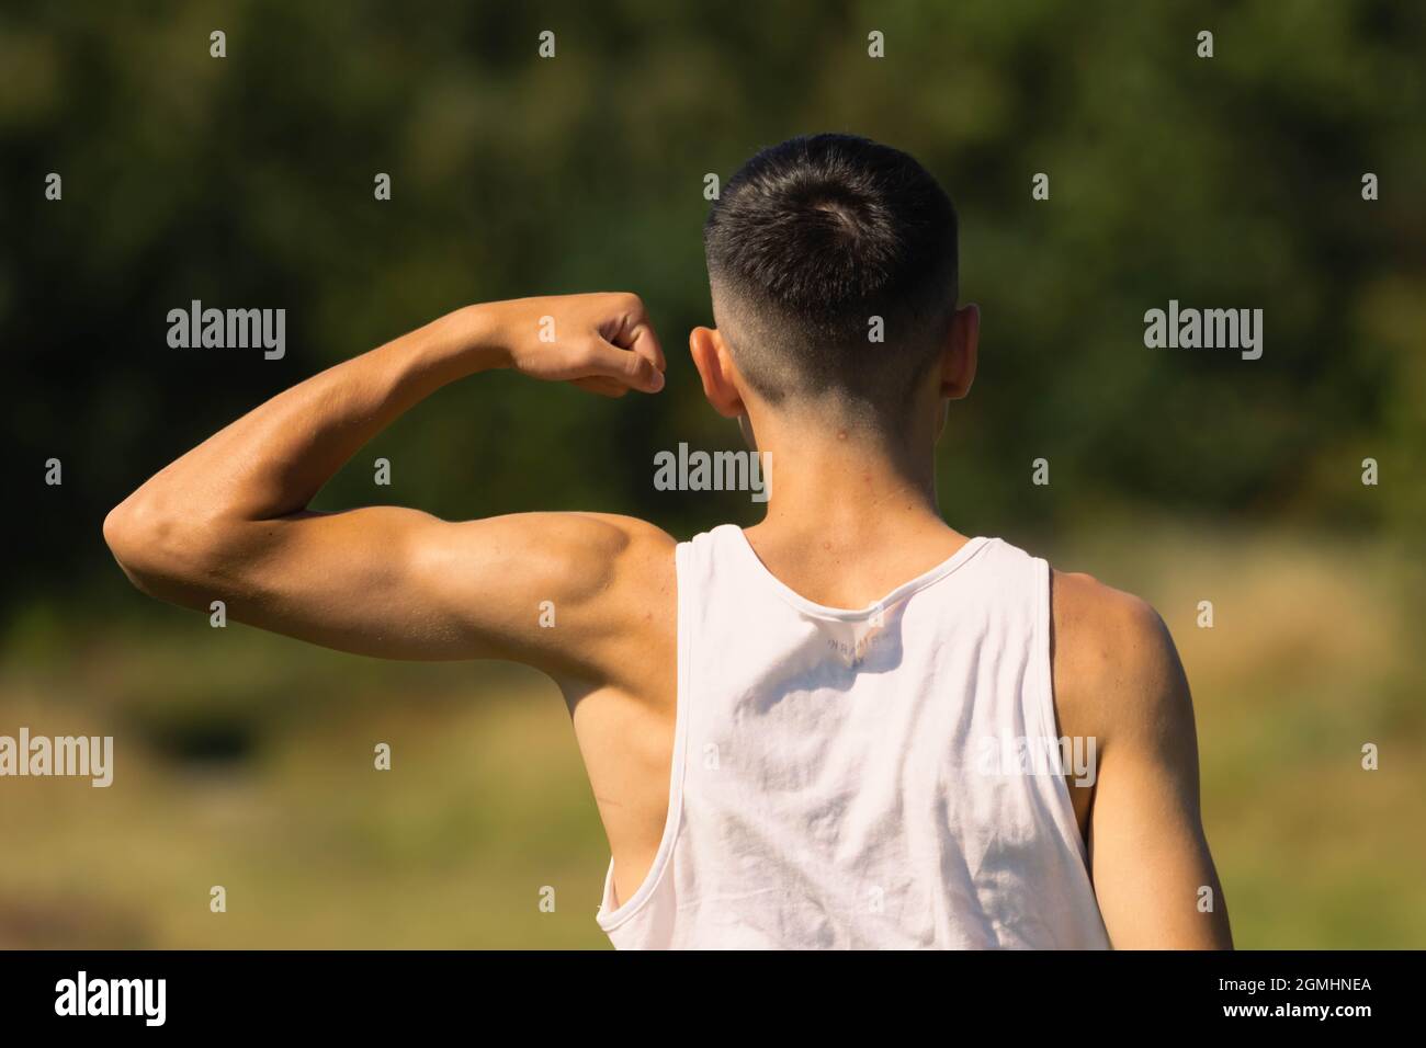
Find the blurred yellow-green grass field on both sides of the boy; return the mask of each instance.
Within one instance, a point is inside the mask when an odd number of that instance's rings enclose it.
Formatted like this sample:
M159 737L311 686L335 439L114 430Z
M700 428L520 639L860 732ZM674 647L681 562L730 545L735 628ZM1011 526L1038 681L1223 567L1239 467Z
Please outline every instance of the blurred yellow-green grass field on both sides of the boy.
M1426 947L1420 550L1141 525L1048 553L1178 639L1239 947ZM133 609L34 607L6 637L0 734L113 734L117 756L107 790L0 780L0 945L606 945L603 834L553 684Z

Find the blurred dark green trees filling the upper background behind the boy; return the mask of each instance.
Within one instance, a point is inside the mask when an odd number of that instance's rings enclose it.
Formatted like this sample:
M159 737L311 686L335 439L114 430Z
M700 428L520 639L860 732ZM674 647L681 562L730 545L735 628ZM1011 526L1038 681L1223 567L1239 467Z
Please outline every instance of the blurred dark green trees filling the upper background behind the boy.
M1216 54L1195 56L1199 29ZM227 33L228 57L208 56ZM538 34L556 33L553 60ZM867 57L871 29L887 57ZM108 506L262 398L453 307L632 288L667 391L485 376L322 496L443 516L647 515L653 453L736 446L683 351L709 321L703 175L791 134L920 157L963 215L981 381L941 466L957 526L1105 502L1412 528L1426 512L1426 9L1397 3L24 4L0 14L7 606L103 572ZM43 197L64 177L64 200ZM376 202L385 171L394 200ZM1051 200L1030 195L1051 175ZM1382 198L1360 198L1360 177ZM183 351L167 312L282 307L288 355ZM1265 311L1261 361L1145 349L1142 315ZM1051 488L1027 482L1054 463ZM1360 461L1380 462L1379 488ZM64 462L63 488L43 462Z

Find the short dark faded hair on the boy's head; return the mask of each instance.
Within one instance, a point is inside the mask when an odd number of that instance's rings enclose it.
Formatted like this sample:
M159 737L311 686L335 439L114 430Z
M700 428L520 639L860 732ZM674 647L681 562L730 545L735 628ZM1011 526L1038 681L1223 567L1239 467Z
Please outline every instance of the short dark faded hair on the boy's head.
M831 396L884 418L944 346L955 208L890 145L817 134L761 150L713 202L703 245L719 328L773 404Z

